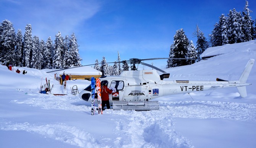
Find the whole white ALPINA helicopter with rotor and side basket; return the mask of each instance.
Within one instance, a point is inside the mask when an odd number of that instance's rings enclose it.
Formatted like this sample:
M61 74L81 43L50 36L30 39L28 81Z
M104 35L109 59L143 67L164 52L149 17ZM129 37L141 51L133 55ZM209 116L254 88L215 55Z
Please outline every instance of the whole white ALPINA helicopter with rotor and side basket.
M127 63L132 64L131 71L123 71L119 76L103 76L99 78L101 86L107 85L108 88L115 90L112 94L109 94L109 101L110 104L113 104L114 110L157 110L159 109L158 101L150 100L166 95L201 92L230 87L237 87L240 96L246 97L246 86L251 85L247 84L246 80L248 79L254 64L254 59L248 61L238 80L222 80L217 78L216 81L164 80L164 78L169 78L169 73L153 65L142 62L158 59L170 58L132 58L127 61ZM185 58L172 59L184 60ZM138 70L135 64L143 64L155 70ZM157 71L160 71L163 74L159 75ZM79 93L79 98L84 101L91 101L91 85ZM97 95L95 95L95 98L97 99Z

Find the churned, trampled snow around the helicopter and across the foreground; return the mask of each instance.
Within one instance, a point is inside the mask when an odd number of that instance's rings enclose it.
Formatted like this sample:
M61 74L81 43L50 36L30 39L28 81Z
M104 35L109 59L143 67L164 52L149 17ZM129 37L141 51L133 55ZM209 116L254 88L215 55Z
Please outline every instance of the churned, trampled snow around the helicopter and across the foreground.
M90 103L81 103L78 97L66 95L51 97L41 95L27 100L13 100L11 103L40 106L43 109L62 109L90 112ZM106 109L102 116L115 122L114 139L95 138L84 129L67 124L32 125L26 123L2 122L1 130L25 130L61 140L80 147L194 147L186 137L175 131L175 117L212 119L220 118L237 121L256 121L256 105L219 101L159 101L160 109L152 111L116 111ZM91 116L86 114L85 116ZM107 140L107 141L106 141ZM102 143L102 142L107 142Z

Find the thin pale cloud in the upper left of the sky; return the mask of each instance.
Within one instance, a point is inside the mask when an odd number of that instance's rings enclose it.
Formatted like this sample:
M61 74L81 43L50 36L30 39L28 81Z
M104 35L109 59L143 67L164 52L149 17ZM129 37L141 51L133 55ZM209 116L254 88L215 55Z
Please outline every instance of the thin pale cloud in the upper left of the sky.
M76 32L77 26L92 18L100 9L100 3L84 0L8 0L5 3L9 3L12 9L1 10L5 16L1 17L3 20L8 19L14 25L18 23L16 30L24 31L26 24L31 24L32 35L44 40L58 31L63 35Z

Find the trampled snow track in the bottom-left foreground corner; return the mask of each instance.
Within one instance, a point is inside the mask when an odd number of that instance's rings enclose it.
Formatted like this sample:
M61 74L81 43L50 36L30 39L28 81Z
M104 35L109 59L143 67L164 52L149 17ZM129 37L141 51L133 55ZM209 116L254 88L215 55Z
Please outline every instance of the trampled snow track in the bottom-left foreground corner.
M28 122L5 122L0 123L0 125L1 130L24 130L27 132L36 132L71 145L76 145L83 148L100 148L99 145L95 145L96 139L91 134L84 130L65 124L32 125Z

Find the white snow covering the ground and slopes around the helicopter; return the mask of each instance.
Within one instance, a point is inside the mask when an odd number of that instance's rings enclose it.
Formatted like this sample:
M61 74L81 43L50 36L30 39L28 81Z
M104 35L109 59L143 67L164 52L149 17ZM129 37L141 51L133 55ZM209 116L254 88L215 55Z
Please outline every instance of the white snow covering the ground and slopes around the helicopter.
M164 69L166 80L236 80L247 61L256 58L256 41L209 48L205 55L219 55L193 65ZM255 147L256 66L247 82L248 96L236 88L164 96L154 111L106 109L91 116L91 103L71 95L90 84L87 80L67 81L67 90L54 80L51 69L19 68L17 74L0 65L1 147L63 148L158 148L158 147ZM75 68L73 69L75 71ZM78 71L79 72L79 71ZM65 70L66 73L66 70ZM68 73L67 73L68 74ZM52 93L40 94L45 77Z

